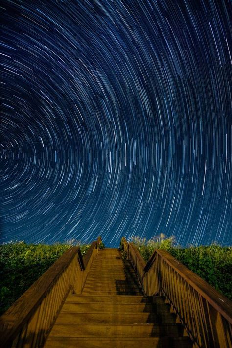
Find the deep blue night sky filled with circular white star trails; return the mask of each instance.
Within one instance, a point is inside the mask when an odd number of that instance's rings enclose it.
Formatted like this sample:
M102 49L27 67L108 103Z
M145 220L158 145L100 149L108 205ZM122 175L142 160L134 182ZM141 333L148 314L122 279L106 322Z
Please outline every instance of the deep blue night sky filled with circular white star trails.
M1 1L1 243L232 244L231 4Z

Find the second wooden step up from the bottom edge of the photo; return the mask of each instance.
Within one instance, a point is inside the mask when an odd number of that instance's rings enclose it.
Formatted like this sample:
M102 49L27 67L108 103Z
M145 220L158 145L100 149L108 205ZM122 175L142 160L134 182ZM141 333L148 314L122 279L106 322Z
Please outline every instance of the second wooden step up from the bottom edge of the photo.
M181 324L58 324L53 326L50 337L180 337Z

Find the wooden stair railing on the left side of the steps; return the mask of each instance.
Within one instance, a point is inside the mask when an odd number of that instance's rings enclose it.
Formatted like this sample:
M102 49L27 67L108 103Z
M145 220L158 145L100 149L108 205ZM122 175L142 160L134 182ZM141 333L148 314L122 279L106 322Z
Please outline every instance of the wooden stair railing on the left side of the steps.
M43 347L68 294L82 292L100 241L83 258L79 247L68 249L0 317L0 348Z

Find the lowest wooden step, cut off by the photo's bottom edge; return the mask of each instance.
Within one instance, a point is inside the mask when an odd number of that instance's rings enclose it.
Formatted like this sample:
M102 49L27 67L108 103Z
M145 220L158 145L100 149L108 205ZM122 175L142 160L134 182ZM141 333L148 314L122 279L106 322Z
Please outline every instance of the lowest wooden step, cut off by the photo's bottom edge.
M45 348L192 348L188 337L142 337L142 338L68 338L48 337Z

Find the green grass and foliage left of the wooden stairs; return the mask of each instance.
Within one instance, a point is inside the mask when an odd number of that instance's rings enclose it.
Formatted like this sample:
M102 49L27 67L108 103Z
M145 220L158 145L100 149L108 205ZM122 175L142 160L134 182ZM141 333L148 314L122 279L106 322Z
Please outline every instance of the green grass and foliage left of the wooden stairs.
M0 315L67 250L73 241L46 244L24 242L0 245ZM79 245L82 255L90 245Z

